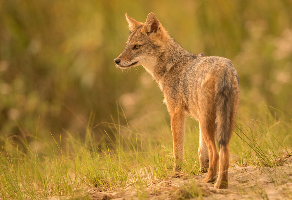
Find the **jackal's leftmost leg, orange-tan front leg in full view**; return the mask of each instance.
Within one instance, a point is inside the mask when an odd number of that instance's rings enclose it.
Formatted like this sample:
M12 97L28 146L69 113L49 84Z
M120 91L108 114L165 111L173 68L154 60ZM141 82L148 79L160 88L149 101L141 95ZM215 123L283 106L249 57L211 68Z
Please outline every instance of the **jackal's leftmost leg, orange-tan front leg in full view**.
M171 131L173 137L173 154L174 154L174 167L172 176L180 172L183 167L183 150L185 139L185 112L176 111L171 113Z

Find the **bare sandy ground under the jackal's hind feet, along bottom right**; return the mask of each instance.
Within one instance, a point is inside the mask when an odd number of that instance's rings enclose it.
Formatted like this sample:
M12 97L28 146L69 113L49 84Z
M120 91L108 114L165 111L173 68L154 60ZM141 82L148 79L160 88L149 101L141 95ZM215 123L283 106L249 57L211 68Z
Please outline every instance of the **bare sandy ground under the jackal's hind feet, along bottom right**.
M129 186L117 192L95 192L91 188L87 197L93 200L123 199L292 199L292 156L276 160L276 168L238 166L229 168L229 188L216 189L203 183L203 176L169 178L151 183L146 188Z

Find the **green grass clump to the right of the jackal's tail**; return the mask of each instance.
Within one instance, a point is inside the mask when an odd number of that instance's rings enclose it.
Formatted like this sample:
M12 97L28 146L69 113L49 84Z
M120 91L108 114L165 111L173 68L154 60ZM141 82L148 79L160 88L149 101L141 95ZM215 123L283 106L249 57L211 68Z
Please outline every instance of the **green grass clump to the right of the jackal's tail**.
M230 148L237 156L237 164L264 167L264 163L291 153L292 119L277 109L272 115L268 107L262 108L257 119L239 116ZM279 116L277 116L279 114Z

